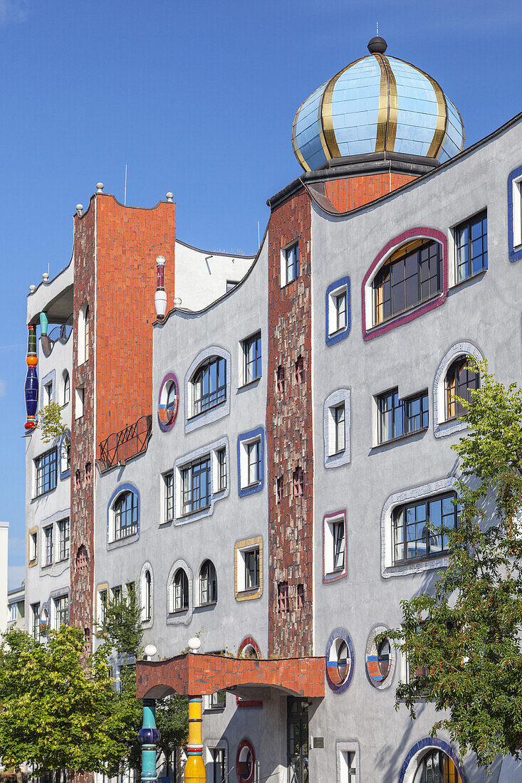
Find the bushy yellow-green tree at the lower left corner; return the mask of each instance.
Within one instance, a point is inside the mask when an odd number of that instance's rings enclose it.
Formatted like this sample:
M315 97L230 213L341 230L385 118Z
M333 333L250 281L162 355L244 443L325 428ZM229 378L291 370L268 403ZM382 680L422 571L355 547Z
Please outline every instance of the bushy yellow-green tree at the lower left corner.
M49 643L12 629L0 646L0 756L7 766L115 774L132 736L132 703L113 687L107 645L85 663L81 630ZM60 779L60 778L58 778Z

